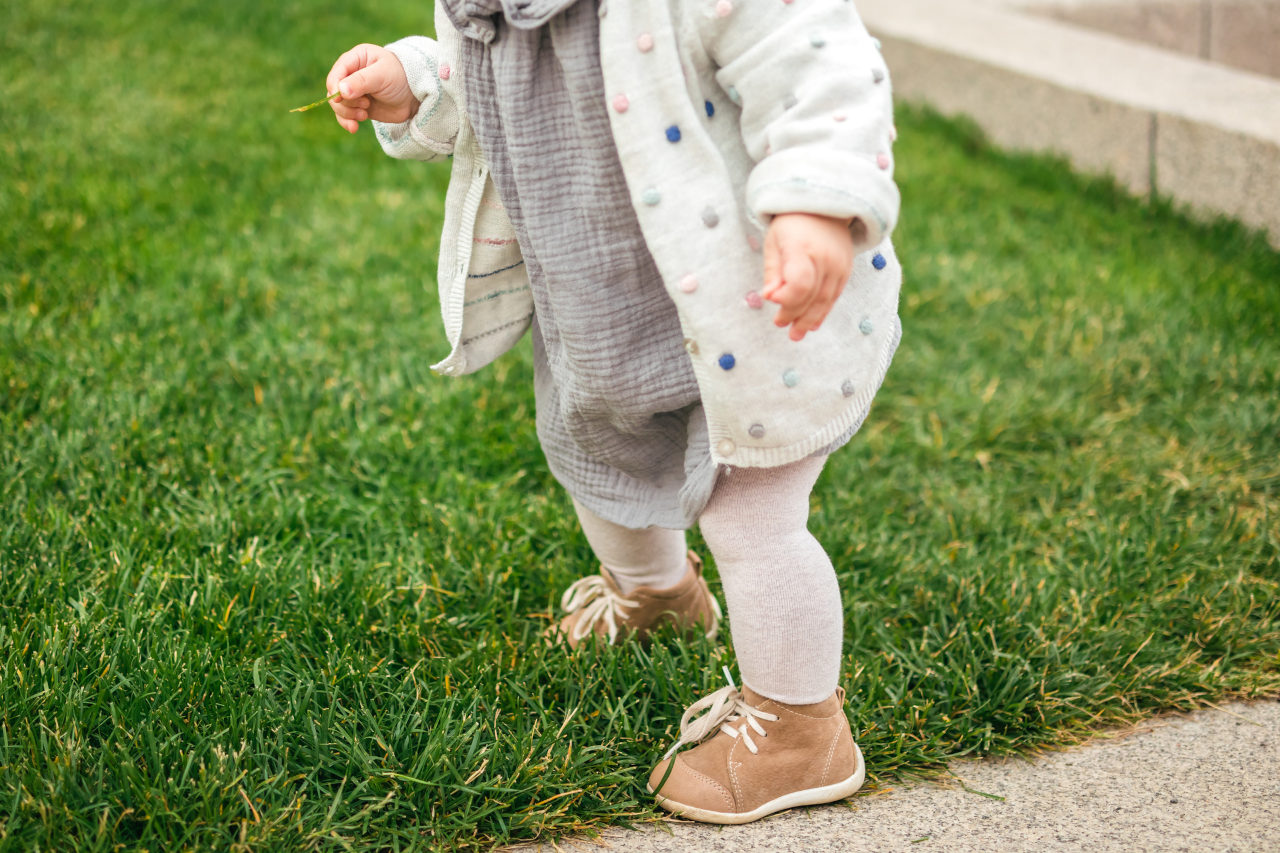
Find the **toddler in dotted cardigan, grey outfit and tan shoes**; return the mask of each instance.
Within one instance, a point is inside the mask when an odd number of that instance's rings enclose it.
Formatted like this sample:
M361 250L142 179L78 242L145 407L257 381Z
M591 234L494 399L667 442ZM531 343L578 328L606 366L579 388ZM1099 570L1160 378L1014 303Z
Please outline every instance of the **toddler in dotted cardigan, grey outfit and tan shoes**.
M649 789L717 824L852 794L841 594L806 524L900 336L874 40L847 0L436 0L435 22L343 54L328 91L388 154L453 158L435 369L531 328L539 441L602 565L558 638L713 637L699 524L744 685L685 712Z

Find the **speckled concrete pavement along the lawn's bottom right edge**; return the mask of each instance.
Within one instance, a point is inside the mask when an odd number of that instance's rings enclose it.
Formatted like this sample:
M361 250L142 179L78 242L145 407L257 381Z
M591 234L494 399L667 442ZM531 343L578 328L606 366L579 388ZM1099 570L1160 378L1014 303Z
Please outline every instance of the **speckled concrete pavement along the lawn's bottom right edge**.
M874 756L869 756L874 761ZM960 761L946 785L864 794L746 826L669 821L561 849L1280 850L1280 702L1151 720L1037 761ZM518 850L550 850L513 848Z

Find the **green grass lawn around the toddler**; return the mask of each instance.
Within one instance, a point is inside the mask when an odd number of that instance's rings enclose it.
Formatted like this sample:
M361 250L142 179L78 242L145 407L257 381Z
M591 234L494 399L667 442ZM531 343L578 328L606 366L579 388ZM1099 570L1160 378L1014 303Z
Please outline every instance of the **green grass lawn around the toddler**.
M591 557L527 347L428 369L448 169L288 113L426 15L0 12L0 849L655 816L648 768L732 649L539 643ZM900 129L905 338L813 519L873 780L1275 694L1280 256Z

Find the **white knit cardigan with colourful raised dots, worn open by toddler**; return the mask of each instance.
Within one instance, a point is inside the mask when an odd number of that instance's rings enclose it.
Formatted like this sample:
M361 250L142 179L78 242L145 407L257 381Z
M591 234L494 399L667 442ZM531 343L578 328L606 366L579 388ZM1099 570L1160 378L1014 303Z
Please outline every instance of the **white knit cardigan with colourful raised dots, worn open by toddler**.
M438 274L452 351L434 369L458 375L520 339L532 300L466 118L461 37L439 8L435 22L438 41L390 45L422 104L378 137L397 158L453 155ZM718 464L785 465L826 447L865 418L888 370L901 333L888 240L899 192L877 47L849 0L602 0L613 140ZM795 211L852 218L859 252L800 342L759 297L764 229Z

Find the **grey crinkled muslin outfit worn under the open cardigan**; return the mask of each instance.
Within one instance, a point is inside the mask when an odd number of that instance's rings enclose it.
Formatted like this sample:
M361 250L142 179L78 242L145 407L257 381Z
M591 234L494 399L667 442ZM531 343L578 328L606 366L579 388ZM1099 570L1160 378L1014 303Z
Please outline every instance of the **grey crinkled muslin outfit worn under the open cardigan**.
M467 109L532 286L538 437L579 502L687 528L716 484L675 304L605 113L596 0L445 0Z

